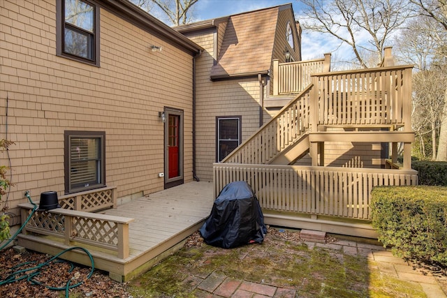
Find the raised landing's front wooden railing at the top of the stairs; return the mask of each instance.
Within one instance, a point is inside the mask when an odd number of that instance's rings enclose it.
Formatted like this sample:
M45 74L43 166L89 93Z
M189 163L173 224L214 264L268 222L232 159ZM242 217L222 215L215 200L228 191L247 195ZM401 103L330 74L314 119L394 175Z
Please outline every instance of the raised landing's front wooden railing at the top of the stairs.
M411 69L392 66L312 75L317 125L405 126L411 131Z

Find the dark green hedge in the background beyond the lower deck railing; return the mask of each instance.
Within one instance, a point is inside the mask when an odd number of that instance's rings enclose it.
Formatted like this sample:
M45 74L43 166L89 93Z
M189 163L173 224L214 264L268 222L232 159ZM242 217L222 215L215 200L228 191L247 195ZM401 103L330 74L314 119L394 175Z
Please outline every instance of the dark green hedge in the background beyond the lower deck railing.
M447 186L447 162L413 161L411 167L418 171L420 185Z

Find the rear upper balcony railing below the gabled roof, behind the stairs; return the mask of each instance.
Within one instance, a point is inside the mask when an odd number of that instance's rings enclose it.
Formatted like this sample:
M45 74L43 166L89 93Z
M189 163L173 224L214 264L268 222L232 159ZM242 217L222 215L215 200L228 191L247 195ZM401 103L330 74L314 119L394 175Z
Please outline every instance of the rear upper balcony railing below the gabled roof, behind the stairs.
M279 63L273 60L273 95L298 94L311 83L312 73L330 71L330 54L323 59Z

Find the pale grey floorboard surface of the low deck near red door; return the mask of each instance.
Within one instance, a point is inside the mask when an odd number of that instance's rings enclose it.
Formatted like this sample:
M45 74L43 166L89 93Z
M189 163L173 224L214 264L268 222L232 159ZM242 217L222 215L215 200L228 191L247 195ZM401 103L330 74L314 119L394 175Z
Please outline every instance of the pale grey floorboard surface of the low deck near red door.
M140 255L210 215L212 184L193 181L137 198L101 213L135 218L129 223L132 255Z

